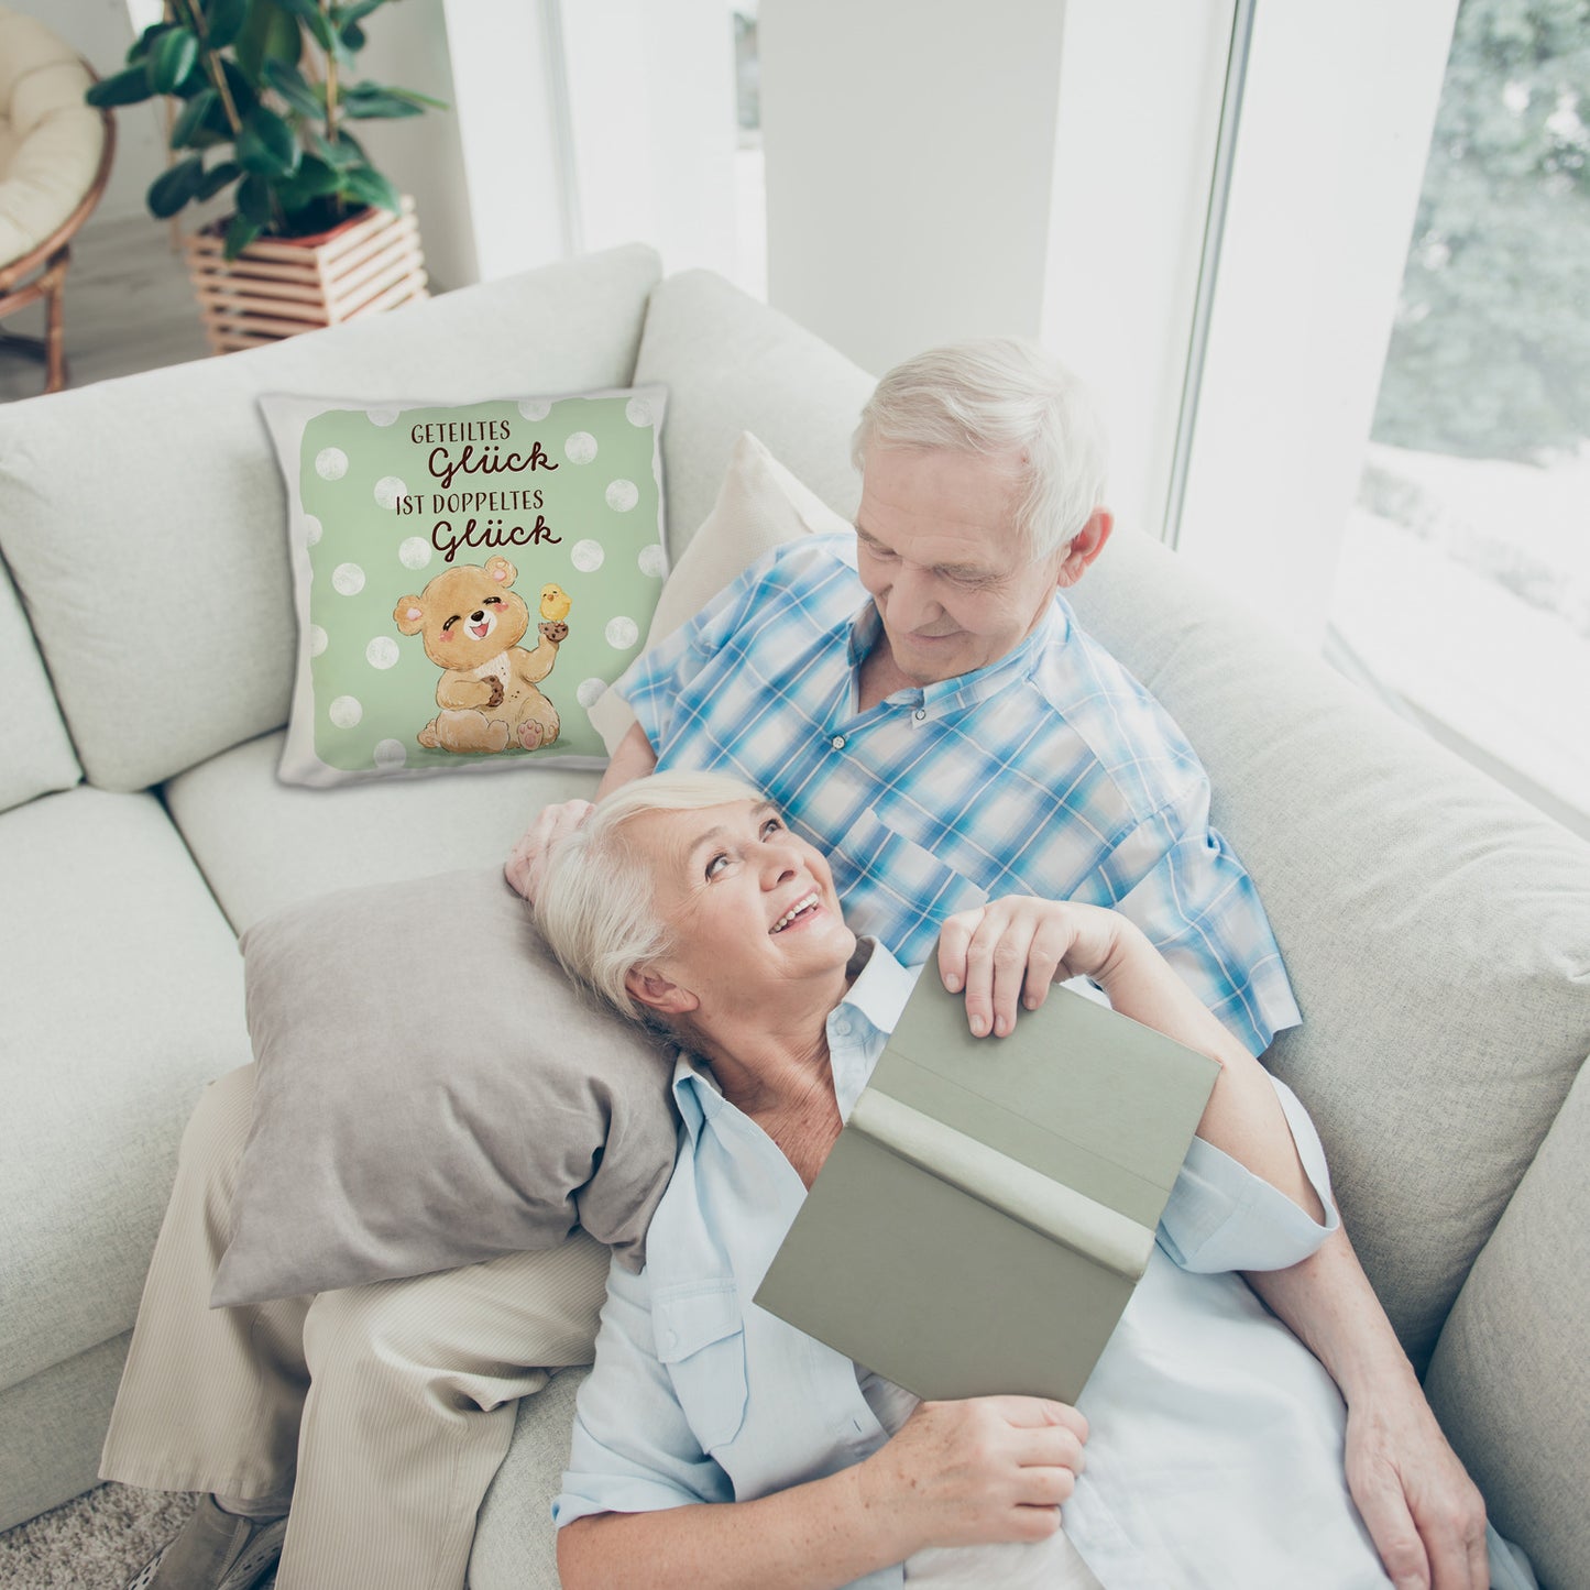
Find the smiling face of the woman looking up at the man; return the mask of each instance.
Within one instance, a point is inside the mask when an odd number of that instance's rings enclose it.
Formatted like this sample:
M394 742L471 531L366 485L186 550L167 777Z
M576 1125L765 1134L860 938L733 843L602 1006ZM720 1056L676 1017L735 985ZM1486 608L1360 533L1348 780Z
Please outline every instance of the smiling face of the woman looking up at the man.
M674 941L652 968L693 997L688 1010L828 999L855 951L822 854L768 801L653 811L626 825L652 865L657 911ZM824 1005L824 1010L828 1006Z

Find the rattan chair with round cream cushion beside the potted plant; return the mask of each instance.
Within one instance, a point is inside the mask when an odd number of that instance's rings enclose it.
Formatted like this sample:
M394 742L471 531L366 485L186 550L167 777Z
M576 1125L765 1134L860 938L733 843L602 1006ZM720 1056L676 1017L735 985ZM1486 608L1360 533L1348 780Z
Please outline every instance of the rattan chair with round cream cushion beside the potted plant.
M110 178L116 129L86 105L94 73L43 22L0 6L0 320L45 302L45 335L0 347L45 359L45 391L67 383L62 332L70 240Z

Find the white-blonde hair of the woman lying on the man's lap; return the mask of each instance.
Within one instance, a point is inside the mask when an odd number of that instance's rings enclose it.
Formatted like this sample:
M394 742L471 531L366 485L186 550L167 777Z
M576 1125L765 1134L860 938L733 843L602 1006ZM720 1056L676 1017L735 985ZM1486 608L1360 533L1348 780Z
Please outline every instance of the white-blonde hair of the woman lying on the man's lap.
M657 914L650 863L625 828L649 811L701 811L762 798L727 773L653 773L607 795L549 849L536 890L536 925L563 970L633 1021L660 1026L625 986L631 971L666 956L673 943Z

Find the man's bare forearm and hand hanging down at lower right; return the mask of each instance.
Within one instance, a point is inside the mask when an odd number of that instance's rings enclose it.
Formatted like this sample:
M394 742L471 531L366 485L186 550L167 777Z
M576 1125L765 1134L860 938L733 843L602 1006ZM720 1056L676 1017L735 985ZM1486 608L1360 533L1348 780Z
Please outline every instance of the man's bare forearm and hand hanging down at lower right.
M1485 1501L1407 1361L1347 1231L1248 1285L1347 1399L1347 1483L1398 1590L1487 1590Z

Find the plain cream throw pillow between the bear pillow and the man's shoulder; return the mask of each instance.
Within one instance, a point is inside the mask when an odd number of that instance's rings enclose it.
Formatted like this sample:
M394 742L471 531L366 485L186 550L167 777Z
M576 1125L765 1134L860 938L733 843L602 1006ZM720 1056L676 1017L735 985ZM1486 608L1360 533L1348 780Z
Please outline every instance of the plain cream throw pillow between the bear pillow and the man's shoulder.
M712 512L668 576L646 644L653 646L673 634L774 547L836 529L854 526L801 485L757 437L741 431ZM634 723L634 714L611 690L591 703L590 717L609 755Z

